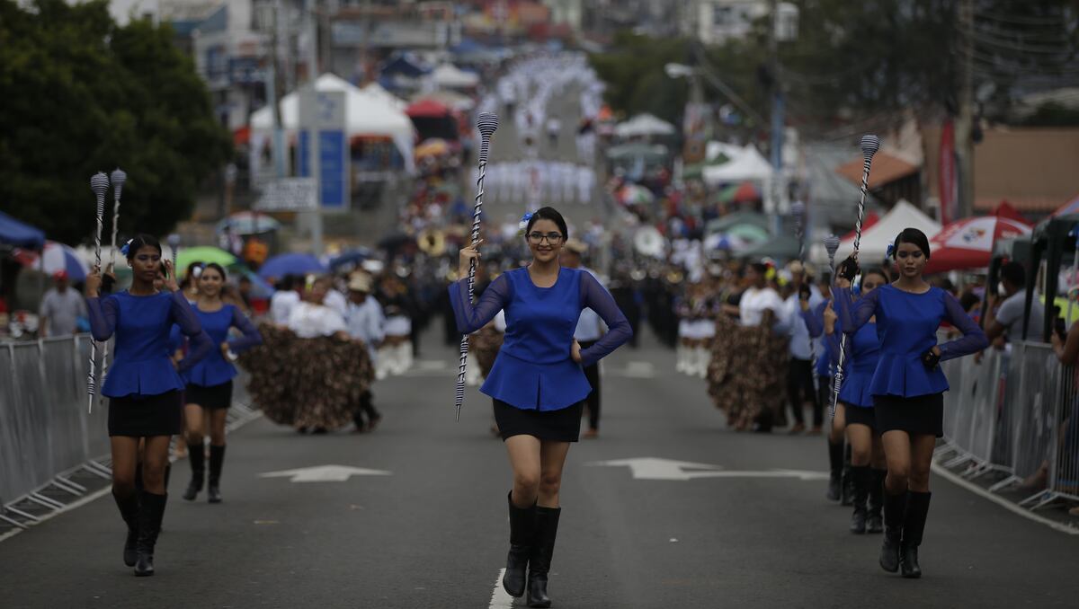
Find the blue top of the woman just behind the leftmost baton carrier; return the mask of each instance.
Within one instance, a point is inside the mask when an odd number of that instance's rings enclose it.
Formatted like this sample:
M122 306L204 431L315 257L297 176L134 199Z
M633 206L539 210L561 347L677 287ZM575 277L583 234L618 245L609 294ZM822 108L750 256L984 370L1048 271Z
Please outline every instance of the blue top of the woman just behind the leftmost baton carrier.
M221 343L228 343L233 352L241 354L261 345L262 334L255 328L251 320L247 319L247 316L234 305L226 304L221 308L208 313L199 308L197 305L192 308L203 331L209 336L211 348L205 358L182 372L180 376L186 384L200 387L214 387L232 380L236 376L236 366L224 359L220 349ZM229 331L233 328L240 330L242 335L230 337ZM169 342L173 345L182 345L182 341L181 329L179 326L174 326Z

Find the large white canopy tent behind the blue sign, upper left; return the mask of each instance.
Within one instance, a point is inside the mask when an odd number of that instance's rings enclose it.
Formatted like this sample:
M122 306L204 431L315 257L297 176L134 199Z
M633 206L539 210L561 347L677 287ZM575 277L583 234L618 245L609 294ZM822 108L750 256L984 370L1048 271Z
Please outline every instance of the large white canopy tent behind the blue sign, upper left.
M364 91L333 74L323 74L315 82L317 91L343 91L347 105L349 136L382 136L394 141L405 160L405 167L412 171L415 129L404 109L377 91ZM381 87L379 87L381 88ZM384 89L383 89L384 91ZM300 96L292 92L281 99L281 116L286 135L300 127ZM273 109L267 106L251 114L251 132L261 137L272 137Z

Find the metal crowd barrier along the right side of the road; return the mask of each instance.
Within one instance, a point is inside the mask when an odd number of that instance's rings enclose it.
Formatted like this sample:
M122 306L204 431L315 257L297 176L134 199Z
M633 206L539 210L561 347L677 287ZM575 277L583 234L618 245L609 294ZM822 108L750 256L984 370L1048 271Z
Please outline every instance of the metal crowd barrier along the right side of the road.
M1010 351L987 349L980 362L942 365L952 387L944 395L944 467L966 466L966 477L1002 472L992 492L1044 474L1044 488L1020 503L1032 509L1079 500L1074 368L1061 365L1048 344L1022 341Z

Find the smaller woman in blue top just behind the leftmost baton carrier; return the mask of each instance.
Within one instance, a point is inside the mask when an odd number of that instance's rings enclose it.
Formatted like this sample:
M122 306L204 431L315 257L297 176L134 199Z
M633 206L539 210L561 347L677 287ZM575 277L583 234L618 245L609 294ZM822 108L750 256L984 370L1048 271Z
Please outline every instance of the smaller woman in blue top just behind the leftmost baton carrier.
M209 417L209 487L207 498L210 503L221 502L221 467L224 463L224 423L229 406L232 405L232 379L236 368L230 360L262 343L262 335L247 316L233 304L221 300L224 286L224 268L217 263L203 266L199 275L199 300L195 301L195 316L203 330L218 348L183 373L187 383L185 392L183 421L191 462L191 482L183 492L183 499L193 501L202 490L205 475L205 447L203 446L204 418ZM236 328L243 336L230 338L229 331ZM174 333L178 329L174 329Z

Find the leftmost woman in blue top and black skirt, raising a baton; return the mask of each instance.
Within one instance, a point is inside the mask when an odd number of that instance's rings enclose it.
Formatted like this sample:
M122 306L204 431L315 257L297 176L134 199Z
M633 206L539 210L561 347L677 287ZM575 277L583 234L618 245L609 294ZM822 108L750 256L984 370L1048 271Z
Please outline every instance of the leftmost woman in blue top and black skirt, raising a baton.
M154 287L161 266L161 244L139 235L122 250L132 267L132 287L98 296L100 268L86 277L86 304L95 341L115 336L112 366L101 387L109 400L109 438L112 448L112 497L127 524L124 564L136 576L153 575L153 550L165 513L165 466L168 443L180 432L185 372L210 349L209 337L176 285L172 261L165 260L165 290ZM173 324L191 340L188 356L173 359ZM139 440L146 447L141 465L141 492L136 494Z

